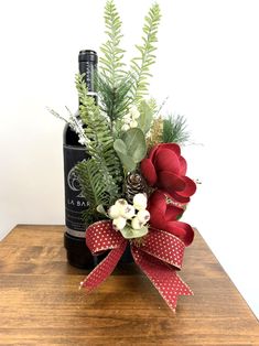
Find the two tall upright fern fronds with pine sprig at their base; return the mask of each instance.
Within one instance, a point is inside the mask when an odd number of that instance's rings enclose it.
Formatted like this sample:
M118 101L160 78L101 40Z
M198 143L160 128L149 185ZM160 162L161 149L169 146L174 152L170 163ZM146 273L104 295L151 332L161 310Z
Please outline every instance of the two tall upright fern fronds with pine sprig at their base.
M136 45L140 55L133 57L130 71L127 71L123 61L125 51L120 43L122 39L121 20L112 0L105 7L106 43L100 46L100 68L98 73L98 91L101 109L111 119L112 128L120 126L120 119L127 108L139 104L148 94L150 67L155 62L154 51L158 41L160 23L160 8L155 3L151 7L143 26L142 44ZM118 120L119 125L114 127Z

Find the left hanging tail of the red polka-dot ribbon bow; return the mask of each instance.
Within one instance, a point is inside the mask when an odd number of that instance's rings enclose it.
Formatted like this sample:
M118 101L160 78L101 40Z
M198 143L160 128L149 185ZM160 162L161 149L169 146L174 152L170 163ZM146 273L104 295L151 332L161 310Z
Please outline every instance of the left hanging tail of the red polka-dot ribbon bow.
M110 250L107 257L85 278L80 286L85 288L87 293L94 291L111 274L125 252L126 246L127 241L123 241L119 248Z

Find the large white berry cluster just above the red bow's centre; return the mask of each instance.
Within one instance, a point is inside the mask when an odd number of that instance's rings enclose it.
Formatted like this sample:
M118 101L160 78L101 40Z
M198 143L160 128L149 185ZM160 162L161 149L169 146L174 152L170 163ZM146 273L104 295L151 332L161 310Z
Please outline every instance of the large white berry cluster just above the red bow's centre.
M137 194L133 197L133 205L128 204L123 198L116 201L109 208L108 215L112 219L114 228L117 230L123 229L127 220L131 221L133 229L141 229L150 219L150 214L145 208L145 194Z

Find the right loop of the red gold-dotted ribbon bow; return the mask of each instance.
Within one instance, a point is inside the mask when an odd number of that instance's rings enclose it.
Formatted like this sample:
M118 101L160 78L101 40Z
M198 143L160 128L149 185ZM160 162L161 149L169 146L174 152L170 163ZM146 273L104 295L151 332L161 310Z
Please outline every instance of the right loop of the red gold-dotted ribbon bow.
M185 245L177 237L150 228L141 250L181 269Z

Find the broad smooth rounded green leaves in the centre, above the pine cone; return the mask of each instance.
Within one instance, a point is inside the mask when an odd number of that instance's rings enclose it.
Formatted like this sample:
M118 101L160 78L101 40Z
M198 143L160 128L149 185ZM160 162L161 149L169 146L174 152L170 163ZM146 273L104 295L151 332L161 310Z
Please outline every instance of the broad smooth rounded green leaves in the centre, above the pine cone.
M147 154L144 133L139 128L129 129L123 132L122 141L127 148L127 155L139 163Z

